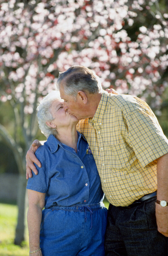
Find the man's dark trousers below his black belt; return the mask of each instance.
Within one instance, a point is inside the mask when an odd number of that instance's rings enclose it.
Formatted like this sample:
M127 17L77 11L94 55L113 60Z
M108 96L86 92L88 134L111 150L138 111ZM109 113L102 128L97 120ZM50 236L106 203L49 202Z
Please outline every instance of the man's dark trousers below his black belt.
M167 256L168 237L157 231L156 197L131 208L109 205L106 256Z

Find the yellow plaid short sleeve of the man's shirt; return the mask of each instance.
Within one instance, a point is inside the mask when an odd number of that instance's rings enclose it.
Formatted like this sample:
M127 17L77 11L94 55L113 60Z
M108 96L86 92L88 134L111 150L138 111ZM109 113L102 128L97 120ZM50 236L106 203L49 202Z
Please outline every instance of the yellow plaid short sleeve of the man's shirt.
M137 109L126 118L128 143L143 167L168 153L168 140L151 110Z

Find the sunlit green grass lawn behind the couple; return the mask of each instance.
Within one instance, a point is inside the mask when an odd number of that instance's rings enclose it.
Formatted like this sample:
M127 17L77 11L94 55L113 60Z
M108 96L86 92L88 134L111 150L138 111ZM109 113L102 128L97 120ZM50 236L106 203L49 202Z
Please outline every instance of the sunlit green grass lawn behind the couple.
M109 202L106 199L103 202L105 207L108 208ZM14 244L17 215L16 205L0 203L0 256L29 255L27 223L25 223L26 241L22 243L22 247Z

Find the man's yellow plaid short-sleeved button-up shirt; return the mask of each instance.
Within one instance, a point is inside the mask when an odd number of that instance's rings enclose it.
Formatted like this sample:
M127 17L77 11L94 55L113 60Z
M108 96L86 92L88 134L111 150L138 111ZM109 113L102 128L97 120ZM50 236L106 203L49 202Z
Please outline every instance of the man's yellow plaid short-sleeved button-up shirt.
M93 118L82 119L102 189L115 206L128 206L157 190L156 159L168 152L168 140L149 106L131 95L103 91Z

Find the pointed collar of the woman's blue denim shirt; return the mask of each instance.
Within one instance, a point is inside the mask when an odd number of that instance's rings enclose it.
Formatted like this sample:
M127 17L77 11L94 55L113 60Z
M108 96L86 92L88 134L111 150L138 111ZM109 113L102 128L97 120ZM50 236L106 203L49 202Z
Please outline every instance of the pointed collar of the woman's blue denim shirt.
M86 141L86 139L85 139L85 137L83 136L83 134L81 134L81 133L78 132L78 131L77 131L77 133L78 133L78 142L77 142L77 146L78 146L81 137L83 137L83 139L84 139L85 141ZM54 152L57 151L58 145L59 145L60 147L62 147L62 143L61 143L57 138L55 138L55 136L54 136L53 134L51 134L51 135L48 137L47 143L48 143L48 146L49 146L49 148L50 148L50 150L51 150L51 153L54 153Z

